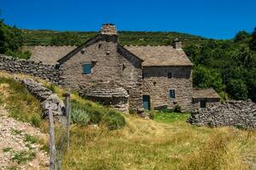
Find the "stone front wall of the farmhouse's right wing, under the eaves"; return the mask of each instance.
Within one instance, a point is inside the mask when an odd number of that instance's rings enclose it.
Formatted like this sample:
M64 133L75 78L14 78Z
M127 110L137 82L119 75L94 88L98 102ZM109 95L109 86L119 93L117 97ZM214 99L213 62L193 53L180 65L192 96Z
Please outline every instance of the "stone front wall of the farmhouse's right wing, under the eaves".
M168 78L169 72L172 78ZM150 95L151 109L180 105L182 111L191 111L191 66L147 66L143 75L143 94ZM175 99L169 98L170 89L175 90Z

